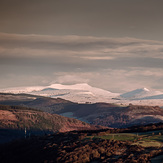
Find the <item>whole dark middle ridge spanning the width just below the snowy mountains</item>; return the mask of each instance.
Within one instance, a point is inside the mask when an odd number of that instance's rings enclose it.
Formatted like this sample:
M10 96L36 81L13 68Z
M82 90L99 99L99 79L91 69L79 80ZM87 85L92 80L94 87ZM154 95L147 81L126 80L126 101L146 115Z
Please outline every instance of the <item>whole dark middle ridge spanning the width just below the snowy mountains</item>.
M9 96L15 100L9 99ZM31 96L34 99L31 99ZM1 98L3 100L1 100ZM110 103L78 104L60 98L54 99L25 94L23 94L22 97L21 94L3 94L1 98L0 104L17 104L52 114L76 118L93 125L113 128L163 121L163 109L158 106L139 106L131 104L125 106ZM22 98L24 99L22 100Z

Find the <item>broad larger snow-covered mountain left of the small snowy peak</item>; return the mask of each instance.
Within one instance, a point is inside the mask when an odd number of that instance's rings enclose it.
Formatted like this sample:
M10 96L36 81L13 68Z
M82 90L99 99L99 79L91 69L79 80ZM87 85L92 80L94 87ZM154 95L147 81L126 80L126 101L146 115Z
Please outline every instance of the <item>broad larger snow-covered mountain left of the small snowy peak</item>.
M36 87L15 87L2 89L0 92L4 93L29 93L34 95L41 95L54 98L63 98L73 102L109 102L113 97L118 96L117 93L92 87L87 83L62 85L52 84L50 86L36 86Z

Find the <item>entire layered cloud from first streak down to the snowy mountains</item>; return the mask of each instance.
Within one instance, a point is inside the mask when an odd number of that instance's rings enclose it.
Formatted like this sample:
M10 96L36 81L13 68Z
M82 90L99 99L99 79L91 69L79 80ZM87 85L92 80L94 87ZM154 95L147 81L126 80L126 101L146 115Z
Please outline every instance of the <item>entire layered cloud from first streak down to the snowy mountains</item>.
M1 88L53 81L113 91L163 89L163 42L0 33L0 73Z

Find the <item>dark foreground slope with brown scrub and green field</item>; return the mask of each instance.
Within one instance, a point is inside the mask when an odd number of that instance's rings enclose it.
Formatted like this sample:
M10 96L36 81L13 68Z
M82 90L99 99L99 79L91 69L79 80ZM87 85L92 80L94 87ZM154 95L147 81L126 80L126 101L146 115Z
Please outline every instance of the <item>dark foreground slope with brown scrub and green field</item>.
M157 135L158 131L160 133L162 130L163 124L160 123L126 129L71 131L43 137L35 136L1 145L0 160L17 163L149 163L153 158L160 159L163 155L163 147L157 145L149 147L136 143L149 140L156 141L156 144L162 143L162 135ZM142 139L139 140L140 138Z

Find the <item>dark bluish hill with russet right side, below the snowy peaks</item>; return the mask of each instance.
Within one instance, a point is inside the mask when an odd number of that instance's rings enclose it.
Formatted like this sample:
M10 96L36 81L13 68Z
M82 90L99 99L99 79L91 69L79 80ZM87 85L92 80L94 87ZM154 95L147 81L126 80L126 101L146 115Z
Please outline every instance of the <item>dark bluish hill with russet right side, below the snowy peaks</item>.
M62 115L66 116L65 110L63 111ZM112 128L163 122L163 109L153 106L120 107L107 103L79 104L76 110L67 109L67 115L68 113L93 125Z

